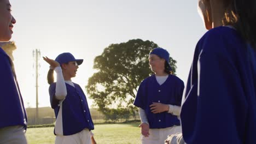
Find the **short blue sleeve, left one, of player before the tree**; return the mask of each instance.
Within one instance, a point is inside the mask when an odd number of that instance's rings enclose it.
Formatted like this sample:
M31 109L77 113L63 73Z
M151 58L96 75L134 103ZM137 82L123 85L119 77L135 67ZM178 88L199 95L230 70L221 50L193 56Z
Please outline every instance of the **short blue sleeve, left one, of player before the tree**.
M139 85L138 92L133 105L141 107L141 109L143 110L146 109L146 88L144 81L142 81L141 84Z

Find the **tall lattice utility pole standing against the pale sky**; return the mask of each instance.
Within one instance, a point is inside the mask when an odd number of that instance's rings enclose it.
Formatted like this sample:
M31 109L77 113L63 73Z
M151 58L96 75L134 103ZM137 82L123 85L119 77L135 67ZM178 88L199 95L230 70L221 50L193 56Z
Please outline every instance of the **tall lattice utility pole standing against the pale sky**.
M40 58L40 50L36 49L36 51L33 50L33 57L36 61L36 124L39 123L39 118L38 118L38 67L40 65L38 64L39 58Z

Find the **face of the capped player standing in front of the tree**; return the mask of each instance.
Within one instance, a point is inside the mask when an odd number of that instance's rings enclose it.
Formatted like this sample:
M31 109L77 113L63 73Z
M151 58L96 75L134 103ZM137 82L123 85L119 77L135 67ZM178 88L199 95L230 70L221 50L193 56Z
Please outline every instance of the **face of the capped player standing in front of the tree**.
M155 54L151 54L148 57L148 61L149 61L149 66L154 73L158 74L161 71L165 70L165 59L160 58Z

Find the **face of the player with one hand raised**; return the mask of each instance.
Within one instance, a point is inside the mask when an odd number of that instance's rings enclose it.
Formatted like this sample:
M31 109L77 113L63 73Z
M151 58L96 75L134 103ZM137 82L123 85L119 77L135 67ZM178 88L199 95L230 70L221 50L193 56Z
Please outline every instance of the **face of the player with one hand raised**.
M62 64L62 73L65 76L65 80L70 80L72 77L75 77L78 69L77 62L68 62L68 64Z

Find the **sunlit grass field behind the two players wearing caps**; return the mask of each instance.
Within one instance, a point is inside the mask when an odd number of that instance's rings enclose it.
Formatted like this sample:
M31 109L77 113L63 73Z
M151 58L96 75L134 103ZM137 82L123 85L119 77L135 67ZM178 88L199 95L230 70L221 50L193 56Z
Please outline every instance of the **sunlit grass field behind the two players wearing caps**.
M117 143L140 143L139 123L129 124L96 124L94 133L97 144L117 144ZM50 128L29 128L26 137L28 144L54 143L55 135L53 127Z

